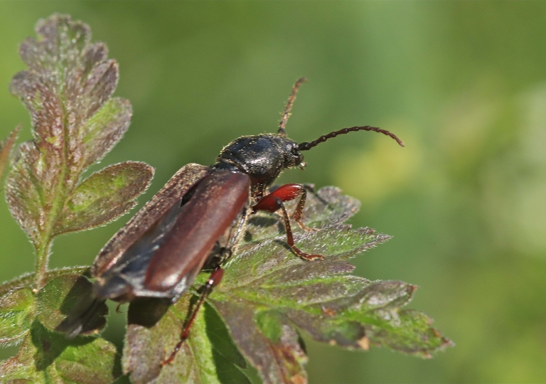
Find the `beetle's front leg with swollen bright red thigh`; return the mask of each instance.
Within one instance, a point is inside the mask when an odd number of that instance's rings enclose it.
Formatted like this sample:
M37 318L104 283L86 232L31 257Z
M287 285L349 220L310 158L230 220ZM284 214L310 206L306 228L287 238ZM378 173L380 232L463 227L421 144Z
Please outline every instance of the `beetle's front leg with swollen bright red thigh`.
M276 210L280 209L280 206L276 202L276 198L280 198L281 201L291 201L299 198L298 205L292 213L292 218L296 223L298 223L299 228L307 232L316 230L315 228L309 228L301 220L301 214L304 212L305 201L307 198L306 186L303 184L285 184L284 186L279 186L269 195L264 196L255 206L252 207L253 213L258 210L265 210L270 213L274 213Z

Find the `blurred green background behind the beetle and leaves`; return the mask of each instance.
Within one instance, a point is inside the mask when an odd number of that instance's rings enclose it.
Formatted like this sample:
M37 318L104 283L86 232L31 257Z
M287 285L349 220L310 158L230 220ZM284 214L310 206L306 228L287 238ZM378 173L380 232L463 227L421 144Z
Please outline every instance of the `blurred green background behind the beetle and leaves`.
M102 166L156 167L141 202L183 164L274 132L302 75L291 138L370 124L404 140L339 137L281 181L360 198L353 224L394 238L358 257L358 274L417 284L411 306L456 347L424 361L309 342L311 383L546 382L546 2L1 1L2 138L19 122L30 138L8 84L24 68L18 43L55 11L119 61L134 117ZM89 265L128 218L59 238L51 267ZM3 198L0 243L0 280L33 269Z

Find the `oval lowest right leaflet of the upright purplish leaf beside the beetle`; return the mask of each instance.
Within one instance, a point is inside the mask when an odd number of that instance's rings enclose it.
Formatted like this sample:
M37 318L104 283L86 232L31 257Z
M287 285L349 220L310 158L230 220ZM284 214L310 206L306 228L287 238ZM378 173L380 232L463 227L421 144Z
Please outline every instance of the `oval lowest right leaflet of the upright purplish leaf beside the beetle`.
M103 225L127 213L154 176L145 163L126 161L92 174L75 189L60 216L55 233Z

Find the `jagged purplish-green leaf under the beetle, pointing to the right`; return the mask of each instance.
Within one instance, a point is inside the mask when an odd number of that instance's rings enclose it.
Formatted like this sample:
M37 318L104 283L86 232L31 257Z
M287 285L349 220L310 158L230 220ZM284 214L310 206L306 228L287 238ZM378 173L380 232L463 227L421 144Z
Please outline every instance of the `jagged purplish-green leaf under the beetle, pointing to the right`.
M208 297L207 311L215 309L230 335L229 343L235 343L262 383L306 383L307 358L300 334L343 348L382 346L422 357L451 345L431 327L426 315L401 309L416 287L404 282L370 282L350 274L354 270L347 261L350 257L390 238L343 224L356 210L358 202L342 196L338 188L308 195L304 222L319 230L305 232L294 225L294 239L304 252L325 257L311 262L289 250L277 217L259 213L249 220L245 242L223 265L223 280ZM201 273L196 287L207 278L208 273ZM190 314L191 297L195 302L195 293L186 292L176 304L163 304L161 309L137 302L129 306L124 370L131 372L134 383L215 363L210 356L215 344L209 334L200 331L209 326L205 312L205 316L198 315L173 363L163 369L159 365L178 342ZM151 313L159 321L138 320ZM196 344L206 345L205 352L196 353Z

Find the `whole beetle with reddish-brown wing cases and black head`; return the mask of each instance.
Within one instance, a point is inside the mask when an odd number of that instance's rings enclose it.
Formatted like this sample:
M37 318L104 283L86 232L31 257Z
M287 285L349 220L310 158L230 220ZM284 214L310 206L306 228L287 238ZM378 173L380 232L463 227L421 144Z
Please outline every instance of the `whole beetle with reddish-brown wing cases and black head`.
M373 131L392 137L400 146L404 144L395 134L369 126L340 129L300 144L289 139L285 127L296 93L305 81L300 78L292 87L277 134L239 137L220 151L215 164L183 166L107 242L90 270L96 279L95 299L75 316L72 324L65 324L68 337L79 334L106 299L123 303L136 297L161 297L176 302L204 267L213 269L180 341L161 364L171 363L188 338L200 306L220 283L221 266L235 252L249 216L258 211L281 212L287 245L296 255L304 260L323 258L300 250L292 235L290 219L304 230L311 230L301 218L306 188L290 183L269 192L269 186L285 169L304 169L302 151L338 134ZM284 203L297 198L299 202L290 217Z

